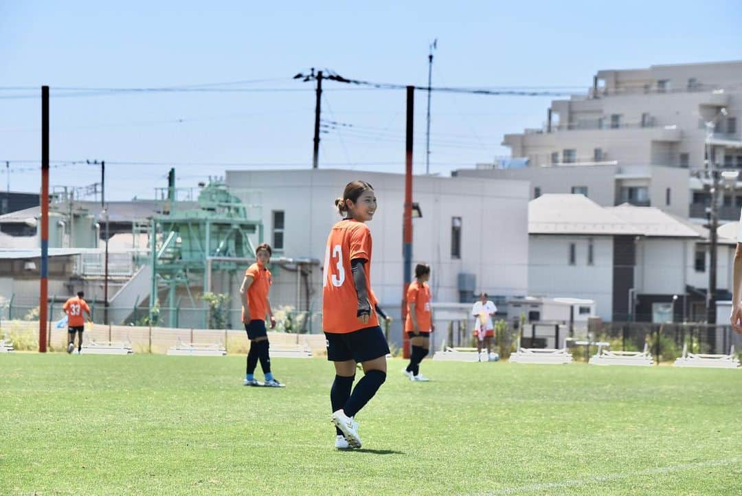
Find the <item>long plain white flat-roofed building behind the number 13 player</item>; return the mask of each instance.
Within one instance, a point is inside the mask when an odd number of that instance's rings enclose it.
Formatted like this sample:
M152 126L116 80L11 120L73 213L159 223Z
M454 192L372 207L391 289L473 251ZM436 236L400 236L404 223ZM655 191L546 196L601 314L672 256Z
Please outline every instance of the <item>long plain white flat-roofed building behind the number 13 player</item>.
M372 286L385 309L397 316L402 297L404 175L361 171L227 171L239 191L262 192L266 241L274 256L324 260L329 229L340 217L333 206L353 179L370 182L378 212L370 222L374 241ZM486 291L505 300L524 296L528 278L528 183L464 177L415 176L413 199L422 217L413 219L413 265L430 263L434 301L472 301ZM507 215L505 215L507 213ZM462 280L461 274L473 274ZM272 294L280 301L277 278ZM321 308L321 271L312 274L311 308ZM272 297L274 298L274 297ZM292 301L289 297L286 300ZM398 325L399 323L395 323Z

